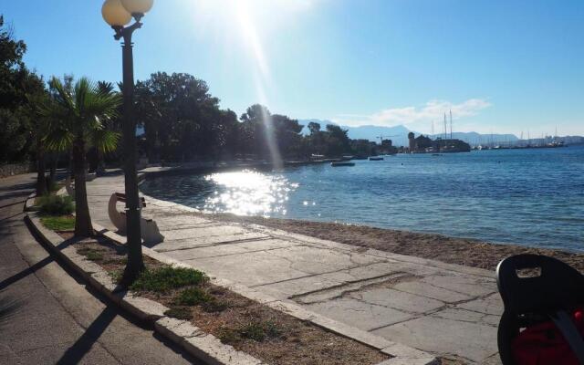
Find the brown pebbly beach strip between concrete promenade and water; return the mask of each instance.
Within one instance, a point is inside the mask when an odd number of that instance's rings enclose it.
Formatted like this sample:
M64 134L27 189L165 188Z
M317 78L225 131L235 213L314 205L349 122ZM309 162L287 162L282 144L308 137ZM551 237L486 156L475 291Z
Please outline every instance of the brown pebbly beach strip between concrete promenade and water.
M302 221L297 219L238 216L235 214L193 213L218 221L260 224L283 231L335 241L341 244L373 248L400 255L412 255L448 264L495 271L497 264L510 255L548 255L567 263L584 274L584 253L512 244L493 244L474 239L377 228L368 225Z

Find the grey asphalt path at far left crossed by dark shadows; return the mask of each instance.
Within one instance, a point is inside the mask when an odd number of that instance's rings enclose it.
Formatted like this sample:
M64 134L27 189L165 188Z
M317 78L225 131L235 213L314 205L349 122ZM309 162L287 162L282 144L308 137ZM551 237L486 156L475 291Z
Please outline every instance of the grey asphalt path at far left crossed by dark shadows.
M0 179L0 364L188 364L94 297L24 223L32 174Z

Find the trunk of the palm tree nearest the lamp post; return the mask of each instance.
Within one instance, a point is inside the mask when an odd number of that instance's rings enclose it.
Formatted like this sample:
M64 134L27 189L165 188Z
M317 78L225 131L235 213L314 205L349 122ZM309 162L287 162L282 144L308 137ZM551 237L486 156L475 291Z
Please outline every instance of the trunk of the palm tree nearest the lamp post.
M85 142L78 136L73 142L73 172L75 175L75 235L89 237L94 235L89 215L86 177Z

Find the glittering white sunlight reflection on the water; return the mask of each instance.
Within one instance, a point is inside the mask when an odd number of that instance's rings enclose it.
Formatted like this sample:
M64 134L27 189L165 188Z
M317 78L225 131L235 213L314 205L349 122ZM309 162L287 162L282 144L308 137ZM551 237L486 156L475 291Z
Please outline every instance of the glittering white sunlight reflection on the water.
M286 215L288 194L298 187L282 175L248 170L213 173L205 181L214 183L216 190L206 198L203 211L239 215Z

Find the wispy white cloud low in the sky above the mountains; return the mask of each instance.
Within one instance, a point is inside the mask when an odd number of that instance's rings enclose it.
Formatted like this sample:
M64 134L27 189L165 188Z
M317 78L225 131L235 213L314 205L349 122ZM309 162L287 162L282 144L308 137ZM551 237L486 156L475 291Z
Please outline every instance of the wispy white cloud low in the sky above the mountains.
M468 99L462 103L454 104L446 100L430 100L420 107L404 107L381 110L371 115L343 114L335 119L336 122L349 126L377 125L395 126L399 124L413 124L423 121L440 121L444 113L453 111L453 118L460 119L471 117L480 110L491 106L485 99Z

